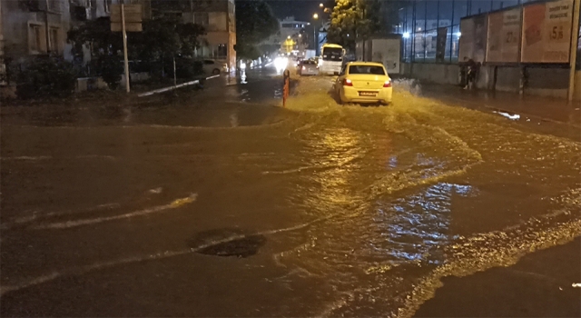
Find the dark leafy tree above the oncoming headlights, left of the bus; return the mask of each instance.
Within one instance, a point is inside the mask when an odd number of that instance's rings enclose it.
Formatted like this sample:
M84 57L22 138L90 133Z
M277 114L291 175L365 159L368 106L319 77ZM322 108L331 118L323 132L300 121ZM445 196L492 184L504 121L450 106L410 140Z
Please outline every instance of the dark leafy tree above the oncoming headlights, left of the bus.
M261 55L258 45L279 32L279 21L271 7L262 0L236 1L236 55L256 59Z

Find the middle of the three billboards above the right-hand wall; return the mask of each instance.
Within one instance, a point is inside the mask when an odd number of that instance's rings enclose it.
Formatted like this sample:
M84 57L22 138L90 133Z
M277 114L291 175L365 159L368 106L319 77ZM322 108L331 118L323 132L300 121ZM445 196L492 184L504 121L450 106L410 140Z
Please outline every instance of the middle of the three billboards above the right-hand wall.
M520 8L514 8L488 15L488 63L518 62L520 13Z

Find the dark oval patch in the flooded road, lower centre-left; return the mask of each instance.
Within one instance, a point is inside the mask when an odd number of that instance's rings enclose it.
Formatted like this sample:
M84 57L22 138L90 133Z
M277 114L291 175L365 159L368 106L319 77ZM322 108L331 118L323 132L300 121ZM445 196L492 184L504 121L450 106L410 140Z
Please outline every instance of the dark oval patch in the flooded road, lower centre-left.
M216 229L196 234L189 245L202 249L198 253L214 256L248 257L258 253L266 243L266 236L245 234L238 229Z

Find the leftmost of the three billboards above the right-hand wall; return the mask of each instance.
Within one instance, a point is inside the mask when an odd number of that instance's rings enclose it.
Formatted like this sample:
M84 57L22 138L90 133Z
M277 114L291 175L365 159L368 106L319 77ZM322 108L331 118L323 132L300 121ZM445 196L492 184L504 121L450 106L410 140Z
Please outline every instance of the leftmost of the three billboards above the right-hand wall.
M476 15L460 21L460 50L458 57L484 62L487 52L487 16Z

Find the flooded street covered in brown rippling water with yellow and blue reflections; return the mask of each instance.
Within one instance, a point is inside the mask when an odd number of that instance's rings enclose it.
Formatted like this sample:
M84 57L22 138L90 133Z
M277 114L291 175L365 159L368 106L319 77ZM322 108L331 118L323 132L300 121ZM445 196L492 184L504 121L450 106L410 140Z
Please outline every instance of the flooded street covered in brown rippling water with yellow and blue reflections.
M3 107L2 315L405 317L444 277L581 234L580 144L558 124L406 82L389 107L338 105L326 77L282 109L272 75Z

